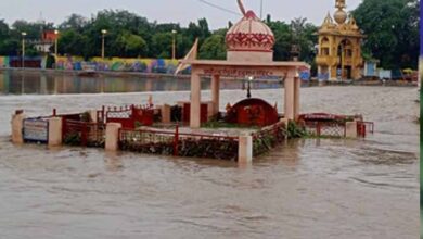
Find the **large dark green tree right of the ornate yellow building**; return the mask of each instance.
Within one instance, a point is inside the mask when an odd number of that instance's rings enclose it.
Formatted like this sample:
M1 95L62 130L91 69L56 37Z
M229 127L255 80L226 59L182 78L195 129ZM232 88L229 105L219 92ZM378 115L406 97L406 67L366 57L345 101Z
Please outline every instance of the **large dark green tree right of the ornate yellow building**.
M364 0L354 12L367 35L364 56L369 53L384 68L416 68L419 56L418 0Z

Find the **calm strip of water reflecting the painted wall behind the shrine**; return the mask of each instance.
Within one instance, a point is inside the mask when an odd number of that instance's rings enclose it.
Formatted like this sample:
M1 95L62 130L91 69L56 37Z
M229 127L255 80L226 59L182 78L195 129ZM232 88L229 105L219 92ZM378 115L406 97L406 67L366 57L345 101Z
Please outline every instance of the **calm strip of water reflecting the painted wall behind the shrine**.
M241 80L222 80L223 89L242 89ZM203 79L202 88L208 89L210 80ZM278 88L281 84L253 83L253 89ZM76 73L52 72L0 72L0 93L2 95L62 95L62 93L115 93L143 91L190 90L189 78L146 78L144 76L100 75L82 77Z

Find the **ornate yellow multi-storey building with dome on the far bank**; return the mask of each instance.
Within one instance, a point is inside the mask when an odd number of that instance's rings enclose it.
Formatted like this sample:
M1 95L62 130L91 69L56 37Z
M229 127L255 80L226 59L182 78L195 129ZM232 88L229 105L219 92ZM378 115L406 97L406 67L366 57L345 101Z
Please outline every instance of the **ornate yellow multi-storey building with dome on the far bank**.
M319 35L319 53L316 58L319 79L359 79L363 59L361 42L363 35L356 20L344 11L345 0L336 0L334 16L328 13Z

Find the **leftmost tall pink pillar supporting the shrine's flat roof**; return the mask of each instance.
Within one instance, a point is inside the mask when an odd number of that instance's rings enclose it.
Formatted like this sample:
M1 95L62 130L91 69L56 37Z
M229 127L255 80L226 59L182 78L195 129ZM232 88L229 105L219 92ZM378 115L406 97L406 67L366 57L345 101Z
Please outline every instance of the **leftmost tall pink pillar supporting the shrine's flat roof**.
M194 71L191 74L191 109L190 109L190 127L201 127L201 88L202 83L200 75Z

